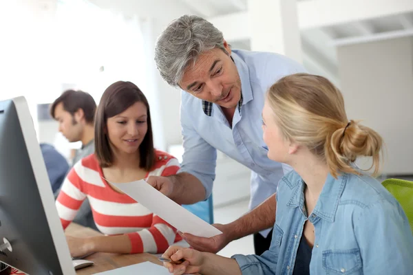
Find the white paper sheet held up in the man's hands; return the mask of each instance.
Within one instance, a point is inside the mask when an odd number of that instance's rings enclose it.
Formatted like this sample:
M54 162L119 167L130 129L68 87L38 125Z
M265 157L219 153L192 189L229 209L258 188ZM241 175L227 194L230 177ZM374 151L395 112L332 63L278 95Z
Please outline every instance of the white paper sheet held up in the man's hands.
M205 238L222 234L220 230L169 199L143 179L125 184L113 182L111 184L157 214L180 232Z

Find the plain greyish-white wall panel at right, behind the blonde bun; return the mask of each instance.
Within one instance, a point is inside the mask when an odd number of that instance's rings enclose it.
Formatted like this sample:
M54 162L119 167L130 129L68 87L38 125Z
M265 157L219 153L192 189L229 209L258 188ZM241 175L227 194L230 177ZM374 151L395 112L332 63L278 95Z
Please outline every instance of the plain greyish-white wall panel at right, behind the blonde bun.
M383 173L413 174L413 39L337 48L349 119L378 131L387 145Z

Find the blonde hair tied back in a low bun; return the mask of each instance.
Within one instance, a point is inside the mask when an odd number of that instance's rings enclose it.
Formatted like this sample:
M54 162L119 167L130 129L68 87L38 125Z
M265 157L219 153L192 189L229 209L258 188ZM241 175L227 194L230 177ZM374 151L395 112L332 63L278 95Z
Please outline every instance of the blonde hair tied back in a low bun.
M324 159L330 174L359 172L357 157L372 157L374 174L379 172L383 140L372 129L350 120L341 92L322 76L293 74L268 90L267 100L286 138L307 146Z

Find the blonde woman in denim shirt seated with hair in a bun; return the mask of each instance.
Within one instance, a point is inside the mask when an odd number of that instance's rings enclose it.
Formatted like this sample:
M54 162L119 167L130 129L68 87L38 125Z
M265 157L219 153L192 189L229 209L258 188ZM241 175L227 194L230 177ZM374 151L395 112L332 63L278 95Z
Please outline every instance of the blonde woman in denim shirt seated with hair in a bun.
M270 250L232 259L171 247L174 274L412 274L413 236L399 203L357 169L383 141L348 120L343 96L326 78L286 76L268 91L262 111L268 157L293 166L277 188Z

